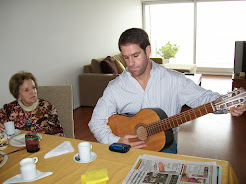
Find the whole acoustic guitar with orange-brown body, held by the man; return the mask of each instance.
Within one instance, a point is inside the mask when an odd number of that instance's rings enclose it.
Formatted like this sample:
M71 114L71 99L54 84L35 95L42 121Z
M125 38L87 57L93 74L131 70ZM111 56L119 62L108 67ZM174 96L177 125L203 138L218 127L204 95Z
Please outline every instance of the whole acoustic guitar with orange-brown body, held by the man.
M204 116L218 110L228 110L246 101L243 88L234 89L220 96L213 102L189 109L182 113L167 117L161 109L142 109L136 115L127 117L119 114L109 117L108 125L112 132L123 137L138 135L134 141L145 141L147 150L160 151L173 138L172 128L185 122Z

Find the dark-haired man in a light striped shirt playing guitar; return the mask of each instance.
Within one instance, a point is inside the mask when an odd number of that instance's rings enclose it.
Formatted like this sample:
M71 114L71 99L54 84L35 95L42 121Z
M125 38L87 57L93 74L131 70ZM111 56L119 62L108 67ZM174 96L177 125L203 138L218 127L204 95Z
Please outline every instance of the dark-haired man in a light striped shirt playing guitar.
M185 104L196 108L220 96L196 85L184 74L169 70L150 60L151 45L147 33L142 29L132 28L123 32L118 46L127 68L109 82L89 122L90 130L101 143L119 142L134 148L146 148L146 141L136 139L139 137L134 132L129 131L124 135L115 135L112 132L108 119L114 114L135 115L142 109L159 108L171 117L180 113ZM233 116L239 116L245 110L246 104L242 103L240 106L230 108L229 112ZM130 123L123 122L120 126L130 129ZM177 129L174 127L170 129L171 132L166 132L170 140L166 140L161 152L177 153L177 144L173 138L173 133Z

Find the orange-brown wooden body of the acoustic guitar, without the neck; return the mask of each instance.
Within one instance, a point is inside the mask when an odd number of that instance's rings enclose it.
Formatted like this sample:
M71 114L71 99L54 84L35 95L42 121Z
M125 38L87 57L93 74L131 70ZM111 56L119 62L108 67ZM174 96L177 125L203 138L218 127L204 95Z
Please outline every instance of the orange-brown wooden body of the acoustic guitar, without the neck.
M153 122L160 121L160 119L167 118L167 115L161 109L143 109L139 111L136 115L132 117L127 117L123 115L113 115L109 118L108 125L110 126L113 134L123 137L125 135L135 135L136 127L139 124L149 125ZM168 135L166 138L165 132ZM166 141L173 141L172 129L159 132L157 134L149 136L146 142L146 150L160 151L164 146ZM141 132L140 132L141 133ZM139 141L139 139L132 139L132 142Z

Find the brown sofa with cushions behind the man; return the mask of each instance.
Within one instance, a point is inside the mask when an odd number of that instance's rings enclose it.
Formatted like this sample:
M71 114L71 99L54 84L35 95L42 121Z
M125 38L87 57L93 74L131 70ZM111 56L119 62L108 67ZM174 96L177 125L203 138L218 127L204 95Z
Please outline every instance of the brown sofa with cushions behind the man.
M162 58L151 58L158 64L163 64ZM195 66L163 64L167 68L180 72L195 73ZM80 106L94 107L102 96L109 81L115 79L124 71L126 62L121 54L107 56L106 58L92 59L90 64L84 66L84 73L79 75ZM176 68L175 68L176 67Z

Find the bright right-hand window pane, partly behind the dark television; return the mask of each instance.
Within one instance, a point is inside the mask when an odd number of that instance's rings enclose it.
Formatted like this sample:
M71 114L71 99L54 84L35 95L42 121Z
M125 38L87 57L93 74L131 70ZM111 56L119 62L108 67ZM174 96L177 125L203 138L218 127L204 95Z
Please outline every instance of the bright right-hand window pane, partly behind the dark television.
M246 40L246 1L197 4L198 66L233 68L235 41Z

